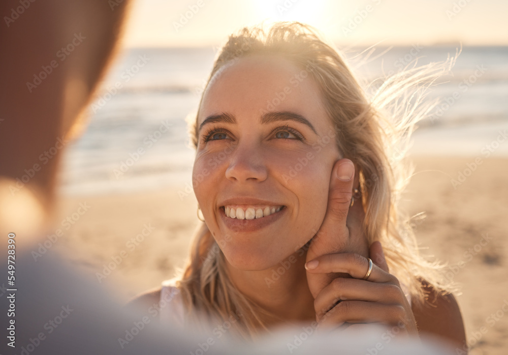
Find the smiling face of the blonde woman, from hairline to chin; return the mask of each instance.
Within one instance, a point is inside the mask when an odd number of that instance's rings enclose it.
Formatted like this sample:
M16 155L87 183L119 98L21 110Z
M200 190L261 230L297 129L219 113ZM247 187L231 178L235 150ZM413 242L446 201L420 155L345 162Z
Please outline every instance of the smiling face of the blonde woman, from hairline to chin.
M218 71L204 93L194 191L217 244L241 270L274 267L323 222L340 153L309 70L250 56Z

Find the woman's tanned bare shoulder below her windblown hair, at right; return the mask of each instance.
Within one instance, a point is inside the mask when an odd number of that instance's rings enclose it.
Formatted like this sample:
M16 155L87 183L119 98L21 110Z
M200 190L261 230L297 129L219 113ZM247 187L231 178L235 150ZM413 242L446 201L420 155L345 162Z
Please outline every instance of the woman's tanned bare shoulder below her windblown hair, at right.
M411 306L420 333L444 338L455 346L466 341L464 322L459 305L452 293L442 292L422 282L425 301Z

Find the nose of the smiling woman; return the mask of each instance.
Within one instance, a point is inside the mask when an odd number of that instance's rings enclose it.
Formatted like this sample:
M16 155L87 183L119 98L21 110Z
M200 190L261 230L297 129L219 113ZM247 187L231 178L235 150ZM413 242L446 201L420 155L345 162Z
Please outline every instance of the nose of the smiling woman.
M226 178L231 181L264 181L268 176L265 160L259 146L239 144L231 153Z

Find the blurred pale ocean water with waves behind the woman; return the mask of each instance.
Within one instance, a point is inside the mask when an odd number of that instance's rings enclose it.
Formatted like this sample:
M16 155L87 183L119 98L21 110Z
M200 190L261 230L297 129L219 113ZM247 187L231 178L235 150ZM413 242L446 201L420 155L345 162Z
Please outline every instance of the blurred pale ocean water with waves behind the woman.
M195 114L214 48L130 49L118 58L92 105L86 131L63 158L63 194L124 193L192 186L194 150L185 118ZM454 56L451 46L348 49L367 81ZM363 58L366 54L362 54ZM508 156L508 47L464 47L451 75L429 93L441 98L414 134L412 155ZM506 140L506 141L505 141ZM497 142L497 143L496 143Z

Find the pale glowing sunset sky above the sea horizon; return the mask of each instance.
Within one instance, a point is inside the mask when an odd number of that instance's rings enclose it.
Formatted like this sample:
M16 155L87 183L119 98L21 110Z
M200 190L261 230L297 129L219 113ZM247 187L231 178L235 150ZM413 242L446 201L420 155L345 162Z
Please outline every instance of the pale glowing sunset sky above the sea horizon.
M506 0L134 0L126 47L218 46L261 21L297 20L347 45L508 45Z

